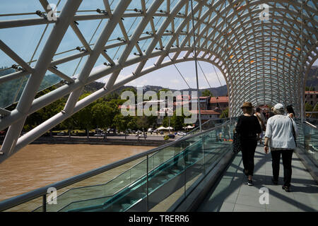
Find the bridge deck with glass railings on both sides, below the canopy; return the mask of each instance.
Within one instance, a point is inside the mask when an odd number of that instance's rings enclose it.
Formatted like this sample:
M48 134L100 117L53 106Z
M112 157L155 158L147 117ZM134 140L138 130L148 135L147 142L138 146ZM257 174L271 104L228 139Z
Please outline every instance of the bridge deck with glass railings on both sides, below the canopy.
M254 186L247 186L241 154L232 153L234 125L235 118L207 121L202 131L196 128L172 143L1 201L0 210L317 211L317 126L298 121L299 148L287 193L271 183L271 157L260 146ZM109 173L117 177L103 181ZM90 185L79 186L83 181ZM52 188L57 197L47 194ZM260 189L268 191L268 203L259 201Z

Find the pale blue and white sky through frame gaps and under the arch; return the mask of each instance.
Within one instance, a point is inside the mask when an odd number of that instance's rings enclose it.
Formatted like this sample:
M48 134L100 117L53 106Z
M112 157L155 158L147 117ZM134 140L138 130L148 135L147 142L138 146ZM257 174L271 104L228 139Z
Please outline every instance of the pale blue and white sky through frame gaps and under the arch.
M57 4L58 0L50 0L49 3ZM61 5L63 5L65 0L61 0ZM116 1L114 1L116 2ZM93 3L93 4L92 4ZM60 6L61 6L60 5ZM98 6L102 8L102 0L84 0L83 3L80 6L80 10L83 9L92 9L92 6ZM40 5L40 2L38 0L0 0L0 20L8 20L8 19L16 19L17 17L10 17L10 16L1 16L1 14L7 14L7 13L28 13L28 12L35 12L37 10L42 10L42 6ZM58 7L58 10L60 10L61 7ZM26 15L26 16L20 16L18 18L38 18L36 15ZM98 23L97 20L89 20L89 21L80 21L79 22L79 28L81 28L81 31L83 32L84 37L86 37L86 40L90 40L90 36L93 33L93 30L95 28L96 23ZM103 26L101 26L102 28ZM47 28L47 32L44 35L43 40L46 40L50 31L52 30L53 25L49 25ZM30 59L37 59L40 56L40 50L44 46L45 42L41 42L40 46L38 47L38 51L35 52L35 55L33 57L34 49L37 47L37 43L40 40L40 37L42 35L43 30L45 30L45 25L35 25L31 27L23 27L23 28L8 28L8 29L0 29L0 38L1 40L6 43L11 49L13 49L14 52L16 52L20 57L22 57L25 61L30 61ZM97 37L93 37L93 41L95 41ZM64 40L62 41L59 49L57 52L64 52L67 49L72 49L74 47L77 47L81 45L78 38L73 33L73 30L69 28L67 30L66 35L64 36ZM71 52L71 54L76 53ZM70 53L69 53L70 54ZM61 57L65 57L66 55L60 54L57 57L54 57L54 59L59 59ZM118 57L118 56L117 56ZM12 64L15 64L15 62L10 59L9 57L4 54L4 52L1 52L0 50L0 67L1 66L11 66ZM68 76L73 76L73 74L79 73L81 67L86 61L86 57L84 57L81 60L81 63L78 66L78 69L76 70L76 66L80 59L77 59L75 61L70 61L69 63L59 65L58 69L62 71L63 73L66 73ZM100 57L95 64L95 66L100 66L103 63L103 57ZM155 63L154 60L149 60L147 62L147 66L151 66ZM216 76L216 73L214 72L212 64L208 64L206 62L200 61L199 64L201 64L204 73L206 74L206 77L208 79L208 82L210 83L211 87L218 87L220 85L225 85L225 79L223 78L222 73L218 69L216 69L218 76L220 78L220 82L218 81L218 78ZM31 66L34 66L35 64L31 64ZM314 65L318 65L318 61L314 63ZM120 72L118 80L121 80L122 78L125 78L126 76L129 76L134 69L136 68L136 65L129 66L125 69L123 69ZM194 61L188 61L185 63L177 64L177 68L179 71L181 71L184 78L187 80L187 83L189 83L189 86L191 88L196 88L196 72L195 72L195 64ZM206 82L206 78L204 78L203 73L201 72L200 68L198 67L199 72L199 88L209 88L208 83ZM50 72L49 72L50 73ZM109 76L106 76L105 78L102 78L100 81L107 81ZM137 78L134 81L131 81L130 83L127 83L126 85L160 85L165 88L172 88L172 89L184 89L188 88L187 84L183 81L182 76L179 75L177 72L177 69L175 69L175 66L167 66L163 69L159 69L158 71L153 71L152 73L148 73L145 76L142 76L141 78Z

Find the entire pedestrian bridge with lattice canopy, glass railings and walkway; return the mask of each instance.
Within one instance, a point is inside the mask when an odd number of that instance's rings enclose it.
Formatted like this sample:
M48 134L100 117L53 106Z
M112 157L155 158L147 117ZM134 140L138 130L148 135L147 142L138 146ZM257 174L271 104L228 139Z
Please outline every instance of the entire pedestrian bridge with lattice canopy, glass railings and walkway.
M184 61L205 61L221 71L228 87L230 120L218 125L210 121L202 131L196 129L178 141L9 198L0 203L0 210L243 210L251 206L277 210L271 201L283 210L317 210L317 124L305 122L304 109L307 74L318 52L317 1L54 3L1 3L0 57L12 66L0 69L10 71L0 76L0 95L4 93L0 130L8 129L0 163L100 97L151 71ZM26 37L33 42L25 43ZM119 76L122 69L134 65L131 75ZM38 90L54 85L44 82L47 73L54 73L64 85L37 97ZM79 100L85 85L105 76L105 87ZM12 81L18 85L6 90ZM68 100L61 112L20 136L30 114L62 97ZM269 155L259 148L257 184L242 185L240 154L233 156L230 138L234 117L245 101L254 106L293 104L301 119L291 194L282 194L279 186L268 183ZM14 109L7 109L13 103ZM103 180L110 170L117 177ZM91 180L91 186L80 186L83 180ZM260 186L269 188L270 206L255 202ZM59 191L56 205L47 203L49 187Z

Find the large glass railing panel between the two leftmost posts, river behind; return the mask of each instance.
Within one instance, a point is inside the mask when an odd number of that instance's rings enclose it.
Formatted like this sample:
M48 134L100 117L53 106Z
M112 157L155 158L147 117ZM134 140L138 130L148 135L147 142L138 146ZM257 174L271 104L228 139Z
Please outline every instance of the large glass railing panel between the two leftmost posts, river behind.
M117 203L115 211L124 210L126 200L122 197L131 194L132 184L139 182L138 179L144 175L146 157L58 190L57 204L47 205L47 211L99 211L100 208L108 211L112 210L114 201ZM131 199L129 203L133 204L138 199Z

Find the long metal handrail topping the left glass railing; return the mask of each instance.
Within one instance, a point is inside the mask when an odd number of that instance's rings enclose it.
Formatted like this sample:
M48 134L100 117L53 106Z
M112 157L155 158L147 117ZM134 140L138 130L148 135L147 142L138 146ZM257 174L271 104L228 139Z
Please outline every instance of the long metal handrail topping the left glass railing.
M184 136L182 138L177 139L176 141L172 141L170 143L166 143L164 145L160 145L159 147L153 148L151 150L147 150L146 152L139 153L139 154L136 154L136 155L133 155L133 156L130 156L130 157L126 157L125 159L119 160L117 162L112 162L112 163L110 163L108 165L105 165L103 167L99 167L97 169L91 169L88 172L84 172L82 174L78 174L78 175L76 175L74 177L69 177L68 179L64 179L64 180L62 180L60 182L55 182L55 183L49 184L47 186L42 186L39 189L35 189L33 191L28 191L28 192L26 192L24 194L20 194L19 196L8 198L8 199L0 202L0 211L7 210L9 208L13 208L14 206L18 206L18 205L20 205L22 203L31 201L31 200L33 200L35 198L39 198L41 196L46 196L47 195L47 189L49 189L51 187L54 187L57 190L58 189L62 189L62 188L66 187L66 186L69 186L71 184L75 184L77 182L81 182L84 179L88 179L90 177L94 177L95 175L101 174L101 173L106 172L106 171L108 171L110 169L114 169L115 167L119 167L119 166L124 165L124 164L126 164L128 162L132 162L134 160L137 160L137 159L139 159L141 157L146 157L147 155L155 153L158 150L162 150L163 148L169 147L171 145L175 145L176 143L180 143L180 142L182 142L184 140L187 140L188 138L192 138L194 136L200 136L201 134L206 133L208 131L212 131L214 129L219 129L222 126L224 126L225 124L229 124L229 121L225 121L225 123L223 123L223 124L221 124L219 126L213 127L211 129L207 129L206 131L200 131L199 133L195 133L195 134L192 134L192 135L189 135L189 136Z

